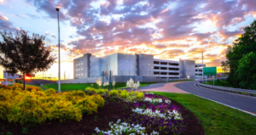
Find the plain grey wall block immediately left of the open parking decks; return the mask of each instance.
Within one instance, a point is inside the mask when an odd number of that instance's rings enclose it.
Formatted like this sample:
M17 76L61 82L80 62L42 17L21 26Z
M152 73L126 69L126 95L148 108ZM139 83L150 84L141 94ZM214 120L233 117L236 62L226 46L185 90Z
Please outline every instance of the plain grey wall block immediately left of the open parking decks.
M137 56L137 76L154 75L154 55L136 54Z

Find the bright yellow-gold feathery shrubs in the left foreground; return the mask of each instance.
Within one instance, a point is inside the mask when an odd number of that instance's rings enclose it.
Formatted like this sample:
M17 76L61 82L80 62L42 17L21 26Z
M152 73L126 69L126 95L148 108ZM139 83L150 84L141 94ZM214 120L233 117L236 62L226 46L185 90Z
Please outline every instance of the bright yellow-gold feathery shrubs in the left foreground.
M21 86L0 88L0 119L20 124L40 124L45 121L80 121L82 115L96 113L105 104L99 94L83 91L55 93L37 87Z

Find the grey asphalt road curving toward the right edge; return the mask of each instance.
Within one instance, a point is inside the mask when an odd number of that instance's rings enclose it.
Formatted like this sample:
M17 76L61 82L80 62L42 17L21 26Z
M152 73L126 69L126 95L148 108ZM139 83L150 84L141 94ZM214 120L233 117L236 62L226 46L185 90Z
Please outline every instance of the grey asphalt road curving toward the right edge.
M198 81L195 81L198 82ZM219 93L212 90L207 90L201 87L195 87L195 82L182 82L178 83L176 87L182 89L185 92L192 93L204 98L209 98L218 101L223 104L227 104L236 107L240 110L246 110L256 114L256 100L252 98L243 98L234 96L228 93Z

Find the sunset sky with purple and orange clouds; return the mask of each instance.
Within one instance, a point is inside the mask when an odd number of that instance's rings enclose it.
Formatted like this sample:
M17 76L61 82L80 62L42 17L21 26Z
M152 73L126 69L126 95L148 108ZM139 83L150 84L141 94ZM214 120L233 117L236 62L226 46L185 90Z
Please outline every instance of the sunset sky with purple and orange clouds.
M201 63L203 51L204 64L219 71L228 46L256 20L255 5L255 0L0 0L0 31L44 35L45 46L57 56L55 7L60 7L61 79L64 74L73 79L73 59L84 53L148 53ZM36 77L58 79L57 60Z

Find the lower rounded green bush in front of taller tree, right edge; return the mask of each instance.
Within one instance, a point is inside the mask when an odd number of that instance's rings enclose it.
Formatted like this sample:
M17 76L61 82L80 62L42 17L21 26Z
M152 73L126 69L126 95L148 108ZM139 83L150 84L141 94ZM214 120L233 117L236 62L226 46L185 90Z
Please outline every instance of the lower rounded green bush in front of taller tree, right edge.
M244 55L239 60L236 73L241 88L256 89L256 54L251 52Z

